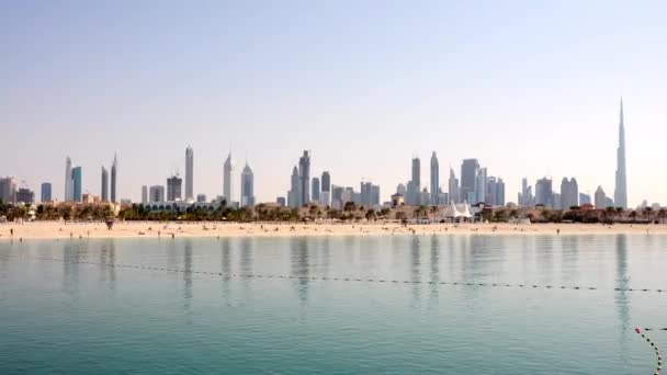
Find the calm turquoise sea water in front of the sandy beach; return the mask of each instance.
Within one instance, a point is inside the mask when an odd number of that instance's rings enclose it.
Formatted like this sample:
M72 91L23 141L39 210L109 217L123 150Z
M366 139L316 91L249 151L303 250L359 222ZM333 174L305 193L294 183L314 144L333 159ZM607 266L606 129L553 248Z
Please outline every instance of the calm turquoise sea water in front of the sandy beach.
M3 240L0 374L653 374L633 328L667 327L666 249L653 235Z

